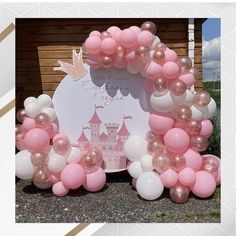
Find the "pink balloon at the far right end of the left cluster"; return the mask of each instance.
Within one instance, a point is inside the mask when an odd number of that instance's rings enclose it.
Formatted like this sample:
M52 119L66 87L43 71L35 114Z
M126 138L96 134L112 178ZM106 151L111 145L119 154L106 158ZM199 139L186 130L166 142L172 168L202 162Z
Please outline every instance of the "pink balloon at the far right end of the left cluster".
M106 183L105 171L99 167L96 172L86 175L83 187L89 192L97 192L101 190Z

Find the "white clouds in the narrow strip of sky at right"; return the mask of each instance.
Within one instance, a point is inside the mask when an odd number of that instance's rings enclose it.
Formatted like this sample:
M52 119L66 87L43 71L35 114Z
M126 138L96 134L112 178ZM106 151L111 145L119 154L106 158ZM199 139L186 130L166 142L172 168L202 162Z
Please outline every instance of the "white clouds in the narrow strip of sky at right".
M220 79L220 37L203 41L203 80Z

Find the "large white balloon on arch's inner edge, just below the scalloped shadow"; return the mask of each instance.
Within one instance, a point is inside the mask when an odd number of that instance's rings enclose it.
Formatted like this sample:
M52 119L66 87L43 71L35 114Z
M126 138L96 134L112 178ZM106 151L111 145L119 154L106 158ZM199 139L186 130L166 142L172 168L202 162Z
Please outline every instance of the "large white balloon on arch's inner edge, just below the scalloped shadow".
M150 98L151 106L154 110L159 112L170 112L174 108L174 102L170 95L170 92L157 96L158 94L153 92Z

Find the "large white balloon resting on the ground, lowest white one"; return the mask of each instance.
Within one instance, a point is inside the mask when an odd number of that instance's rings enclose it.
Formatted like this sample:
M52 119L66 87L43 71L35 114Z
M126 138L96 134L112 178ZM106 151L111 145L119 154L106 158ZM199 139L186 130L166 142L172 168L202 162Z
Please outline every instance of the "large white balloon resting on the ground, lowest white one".
M156 172L147 171L138 177L136 189L142 198L155 200L163 193L164 186Z

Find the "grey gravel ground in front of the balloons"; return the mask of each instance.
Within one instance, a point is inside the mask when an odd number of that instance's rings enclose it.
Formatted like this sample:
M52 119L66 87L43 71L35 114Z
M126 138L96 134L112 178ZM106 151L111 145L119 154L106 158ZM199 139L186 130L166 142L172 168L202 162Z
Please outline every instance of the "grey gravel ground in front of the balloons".
M130 180L124 173L108 175L102 191L88 193L81 188L63 198L20 180L16 183L16 222L220 222L219 188L211 198L191 196L179 205L170 201L167 190L158 200L141 199Z

